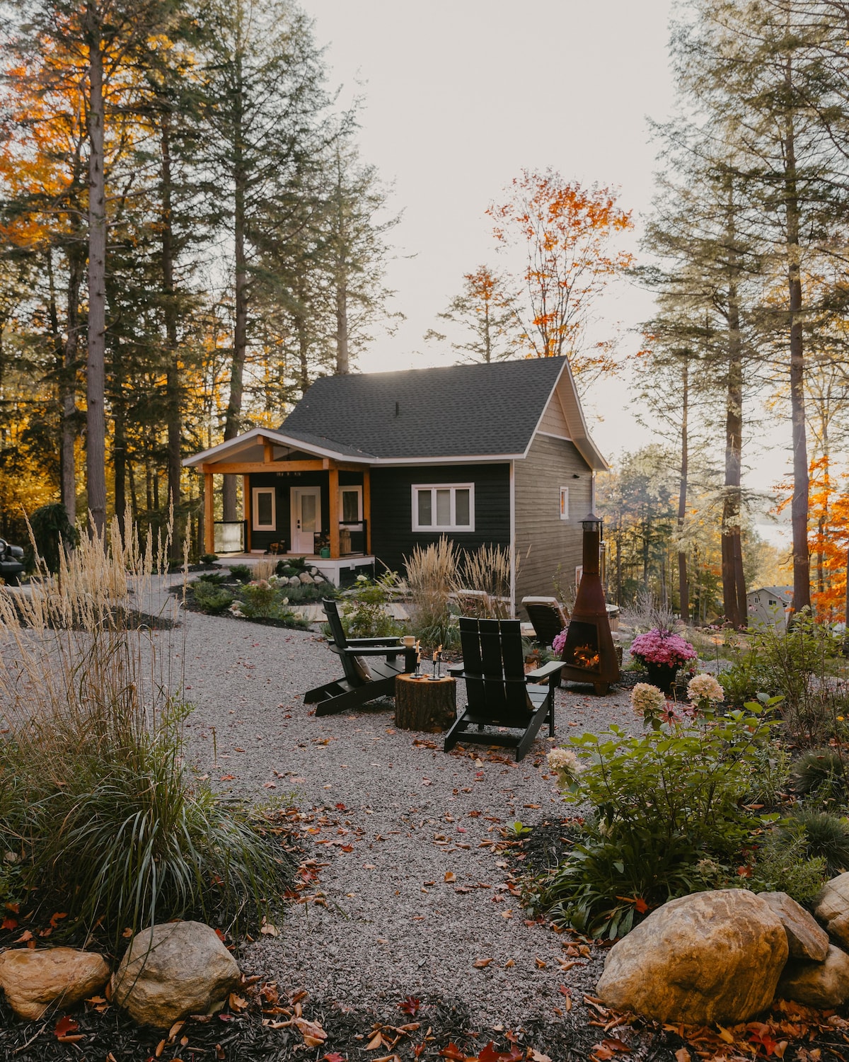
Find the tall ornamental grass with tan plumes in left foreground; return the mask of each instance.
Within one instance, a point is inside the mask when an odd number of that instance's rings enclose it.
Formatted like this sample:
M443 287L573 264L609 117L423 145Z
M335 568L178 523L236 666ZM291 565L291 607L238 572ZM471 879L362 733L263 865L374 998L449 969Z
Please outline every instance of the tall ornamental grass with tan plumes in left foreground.
M0 593L5 889L67 912L70 935L232 921L280 892L281 852L185 763L181 636L150 615L176 619L153 579L167 559L166 539L142 546L116 521L55 578L36 558L30 597Z

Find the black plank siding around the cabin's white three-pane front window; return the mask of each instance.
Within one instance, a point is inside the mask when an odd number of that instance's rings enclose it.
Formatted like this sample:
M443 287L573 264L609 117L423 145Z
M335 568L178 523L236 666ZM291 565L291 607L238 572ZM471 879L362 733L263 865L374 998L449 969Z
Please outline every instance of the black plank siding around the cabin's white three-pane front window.
M461 549L510 544L509 465L417 465L371 468L371 552L378 570L403 571L403 559L416 546L429 546L438 533L413 531L414 483L474 483L474 531L446 531Z

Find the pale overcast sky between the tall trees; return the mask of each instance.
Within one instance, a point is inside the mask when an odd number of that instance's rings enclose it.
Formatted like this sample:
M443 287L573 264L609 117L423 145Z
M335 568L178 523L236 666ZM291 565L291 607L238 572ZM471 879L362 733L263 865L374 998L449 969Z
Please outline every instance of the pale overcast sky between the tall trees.
M395 186L403 211L388 284L406 321L361 359L364 372L450 364L426 344L463 274L493 261L487 205L522 168L619 186L641 216L654 192L647 119L673 100L666 42L673 0L302 0L327 47L343 101L363 98L363 158ZM601 335L629 335L651 298L620 285L599 306ZM626 381L589 396L593 435L608 458L651 434L624 407ZM789 451L750 456L749 485L769 489Z

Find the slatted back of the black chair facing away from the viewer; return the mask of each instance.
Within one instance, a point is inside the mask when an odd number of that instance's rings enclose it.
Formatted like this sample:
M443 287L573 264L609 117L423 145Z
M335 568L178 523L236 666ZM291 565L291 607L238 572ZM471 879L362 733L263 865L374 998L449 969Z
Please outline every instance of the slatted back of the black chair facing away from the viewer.
M532 710L518 619L461 617L460 637L469 707L500 726L525 726Z

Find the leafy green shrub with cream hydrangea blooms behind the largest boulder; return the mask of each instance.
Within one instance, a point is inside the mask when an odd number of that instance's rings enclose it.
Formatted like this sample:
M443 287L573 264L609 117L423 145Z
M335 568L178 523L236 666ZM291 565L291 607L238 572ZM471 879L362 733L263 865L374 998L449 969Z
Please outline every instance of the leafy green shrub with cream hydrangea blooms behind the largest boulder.
M569 852L535 904L555 921L610 938L671 896L697 888L696 867L742 861L762 820L740 804L773 724L768 705L642 737L618 726L550 753L566 799L589 806L586 838ZM775 818L775 817L774 817Z

